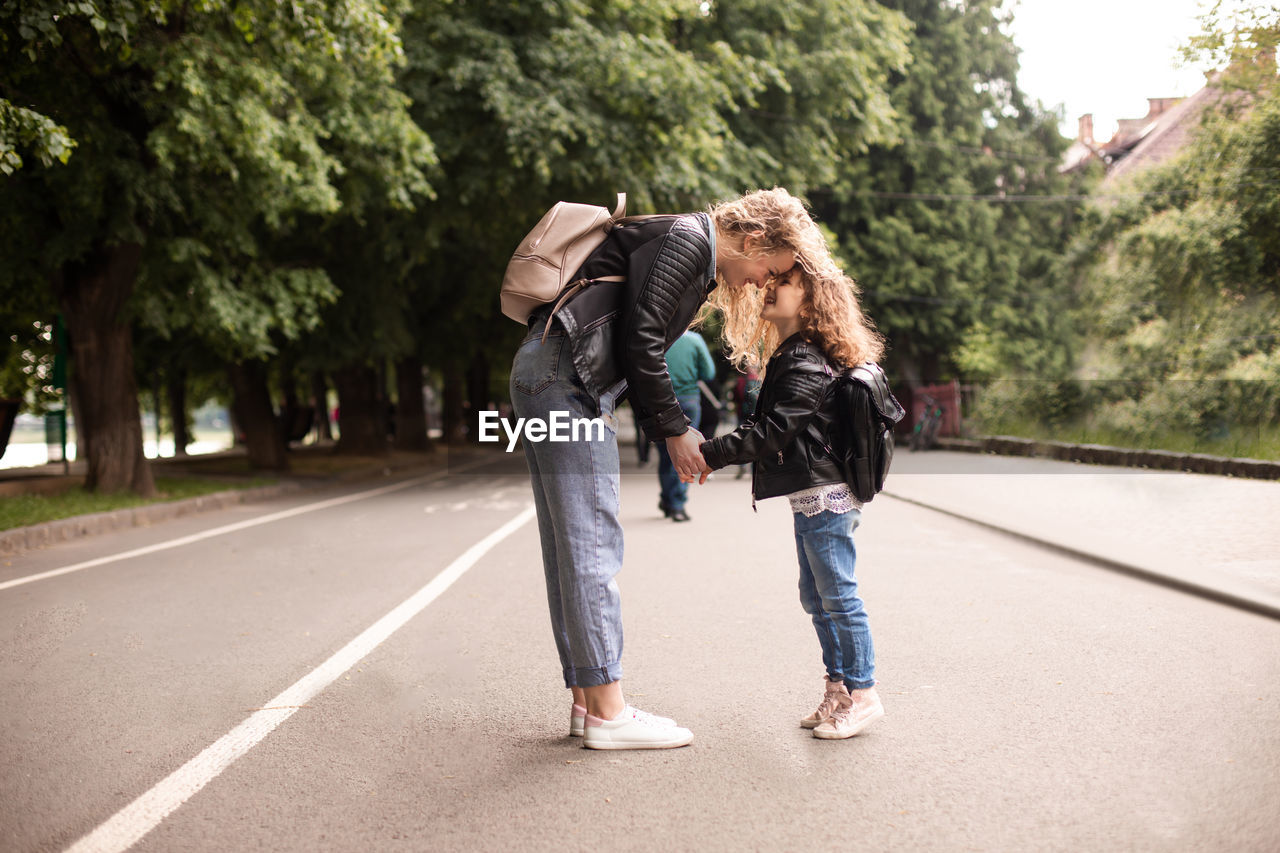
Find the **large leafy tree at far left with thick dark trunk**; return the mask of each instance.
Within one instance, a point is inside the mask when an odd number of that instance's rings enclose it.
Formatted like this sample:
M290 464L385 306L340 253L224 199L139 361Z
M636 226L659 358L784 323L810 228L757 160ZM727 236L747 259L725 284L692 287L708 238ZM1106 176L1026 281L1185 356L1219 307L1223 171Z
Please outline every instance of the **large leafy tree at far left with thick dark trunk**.
M344 175L366 161L397 201L425 190L430 143L394 87L398 12L45 0L0 13L18 33L0 45L0 95L77 146L0 186L0 282L52 283L92 437L87 487L154 488L134 316L237 364L268 356L335 297L314 257L282 248L300 218L339 211Z

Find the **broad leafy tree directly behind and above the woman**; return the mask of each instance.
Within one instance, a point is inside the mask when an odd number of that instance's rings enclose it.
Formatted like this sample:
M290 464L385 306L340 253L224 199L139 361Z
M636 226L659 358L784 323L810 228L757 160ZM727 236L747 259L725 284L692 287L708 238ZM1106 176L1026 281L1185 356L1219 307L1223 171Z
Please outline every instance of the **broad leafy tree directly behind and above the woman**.
M632 213L682 211L831 174L891 127L904 33L874 3L419 0L403 86L442 177L411 310L447 425L461 383L475 407L495 393L520 334L498 282L547 207L625 190Z

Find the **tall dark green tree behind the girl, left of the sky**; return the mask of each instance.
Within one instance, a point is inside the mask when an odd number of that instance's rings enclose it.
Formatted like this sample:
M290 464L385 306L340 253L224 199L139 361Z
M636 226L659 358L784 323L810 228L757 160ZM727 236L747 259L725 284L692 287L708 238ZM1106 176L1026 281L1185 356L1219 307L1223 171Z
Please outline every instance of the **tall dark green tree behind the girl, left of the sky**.
M1069 301L1048 286L1074 228L1057 118L1016 85L1000 0L886 0L914 26L895 73L900 141L844 161L815 193L911 383L1069 366Z

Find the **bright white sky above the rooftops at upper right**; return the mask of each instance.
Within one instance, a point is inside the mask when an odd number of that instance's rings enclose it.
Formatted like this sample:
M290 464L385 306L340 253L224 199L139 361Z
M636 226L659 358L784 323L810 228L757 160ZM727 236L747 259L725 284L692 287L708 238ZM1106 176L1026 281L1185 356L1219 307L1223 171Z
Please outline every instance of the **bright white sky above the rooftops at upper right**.
M1204 0L1006 0L1021 50L1018 86L1052 109L1075 137L1093 113L1093 137L1111 138L1116 122L1147 114L1148 97L1185 97L1204 70L1179 67L1178 49L1199 32Z

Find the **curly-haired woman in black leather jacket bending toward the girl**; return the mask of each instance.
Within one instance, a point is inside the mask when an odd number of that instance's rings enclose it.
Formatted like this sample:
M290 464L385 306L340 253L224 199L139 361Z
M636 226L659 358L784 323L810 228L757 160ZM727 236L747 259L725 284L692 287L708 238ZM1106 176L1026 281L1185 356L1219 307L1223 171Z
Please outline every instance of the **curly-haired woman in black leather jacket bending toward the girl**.
M637 426L666 443L676 471L703 470L699 444L667 375L664 353L713 291L733 305L822 245L804 205L762 190L707 213L659 216L616 228L576 278L625 275L588 287L554 316L530 316L516 352L511 398L518 418L602 418L628 394ZM717 287L719 286L719 287ZM543 342L547 325L552 330ZM622 567L618 447L603 441L525 442L547 574L547 599L564 684L570 733L591 749L682 747L694 735L632 708L622 695L622 616L613 580Z

